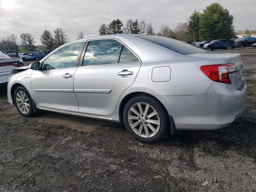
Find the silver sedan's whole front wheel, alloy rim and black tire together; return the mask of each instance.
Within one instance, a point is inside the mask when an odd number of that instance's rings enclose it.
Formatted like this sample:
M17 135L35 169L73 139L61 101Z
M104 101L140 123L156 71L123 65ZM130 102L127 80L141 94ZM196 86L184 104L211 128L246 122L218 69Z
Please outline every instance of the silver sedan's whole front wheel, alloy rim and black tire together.
M24 117L34 116L33 101L24 86L19 86L14 92L14 103L18 112Z

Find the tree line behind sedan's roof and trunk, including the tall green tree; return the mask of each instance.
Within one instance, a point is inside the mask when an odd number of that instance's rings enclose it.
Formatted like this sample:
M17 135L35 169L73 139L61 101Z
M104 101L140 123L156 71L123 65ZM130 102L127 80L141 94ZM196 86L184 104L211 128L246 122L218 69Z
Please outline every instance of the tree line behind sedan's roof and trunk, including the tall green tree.
M197 42L203 40L234 38L234 17L229 11L218 3L207 6L203 12L194 11L186 22L179 22L176 28L162 25L156 34L174 38L184 42ZM247 33L248 30L246 31ZM245 33L246 33L245 32ZM125 25L122 21L113 20L110 24L102 24L99 28L100 35L106 34L155 34L152 24L128 20Z

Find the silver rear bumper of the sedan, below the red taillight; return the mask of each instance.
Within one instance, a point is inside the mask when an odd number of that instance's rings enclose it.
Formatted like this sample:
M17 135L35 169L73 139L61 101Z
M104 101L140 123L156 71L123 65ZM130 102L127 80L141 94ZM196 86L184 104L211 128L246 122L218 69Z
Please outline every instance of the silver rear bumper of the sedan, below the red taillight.
M177 130L211 130L229 126L246 106L247 85L231 90L213 82L203 95L156 96L172 116Z

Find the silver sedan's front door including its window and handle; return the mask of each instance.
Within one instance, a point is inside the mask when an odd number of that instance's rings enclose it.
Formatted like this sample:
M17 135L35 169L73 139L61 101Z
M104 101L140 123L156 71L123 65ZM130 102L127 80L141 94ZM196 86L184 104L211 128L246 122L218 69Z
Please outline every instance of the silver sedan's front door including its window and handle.
M32 72L31 88L37 106L78 112L73 80L84 44L60 48L42 61L42 70Z

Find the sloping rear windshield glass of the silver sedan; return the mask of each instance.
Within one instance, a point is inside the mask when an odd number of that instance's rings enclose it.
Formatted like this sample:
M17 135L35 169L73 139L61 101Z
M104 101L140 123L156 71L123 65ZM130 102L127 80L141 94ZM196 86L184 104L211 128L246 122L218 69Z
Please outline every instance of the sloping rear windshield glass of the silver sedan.
M206 50L202 50L193 45L190 45L178 40L174 40L171 38L167 38L167 37L154 36L154 35L141 35L137 37L148 40L152 43L158 44L160 46L176 51L183 55L207 52Z

